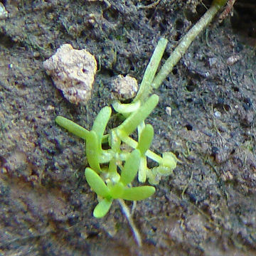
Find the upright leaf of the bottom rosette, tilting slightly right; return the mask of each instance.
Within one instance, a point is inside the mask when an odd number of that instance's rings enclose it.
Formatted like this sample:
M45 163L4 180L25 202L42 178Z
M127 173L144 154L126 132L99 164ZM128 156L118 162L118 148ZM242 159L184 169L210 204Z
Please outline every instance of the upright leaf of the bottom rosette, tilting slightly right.
M139 169L141 154L138 149L134 149L131 154L127 157L127 160L124 163L124 167L121 171L120 181L126 186L131 183L135 176L137 175L137 171Z

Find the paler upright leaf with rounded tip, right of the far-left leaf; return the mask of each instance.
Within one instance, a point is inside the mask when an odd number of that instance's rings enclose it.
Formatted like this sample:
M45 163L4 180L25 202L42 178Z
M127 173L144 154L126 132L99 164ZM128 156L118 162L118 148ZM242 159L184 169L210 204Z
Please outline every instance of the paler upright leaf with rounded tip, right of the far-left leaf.
M95 133L97 134L100 147L101 147L102 137L107 126L107 122L110 120L110 115L111 115L111 107L103 107L100 110L99 114L97 114L95 122L93 122L93 125L92 125L92 131L95 131Z

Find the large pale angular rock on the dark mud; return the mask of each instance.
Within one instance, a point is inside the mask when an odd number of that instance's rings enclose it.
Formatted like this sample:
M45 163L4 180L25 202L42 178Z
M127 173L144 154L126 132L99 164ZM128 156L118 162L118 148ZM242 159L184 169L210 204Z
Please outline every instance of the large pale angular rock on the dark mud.
M90 99L97 63L87 50L64 44L43 62L43 67L68 101L85 104Z

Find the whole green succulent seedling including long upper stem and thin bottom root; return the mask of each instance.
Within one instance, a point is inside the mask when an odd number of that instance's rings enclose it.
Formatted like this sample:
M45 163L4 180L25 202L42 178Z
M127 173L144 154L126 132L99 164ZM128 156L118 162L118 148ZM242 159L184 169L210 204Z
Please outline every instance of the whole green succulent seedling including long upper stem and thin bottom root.
M118 127L104 134L112 112L110 107L103 107L100 110L91 131L80 127L80 125L65 117L58 116L55 119L61 127L86 141L85 151L90 167L85 169L85 178L92 191L97 193L99 201L93 211L93 215L96 218L102 218L110 209L112 201L117 199L124 214L127 216L139 245L142 245L139 232L123 200L143 200L154 193L155 188L153 186L132 186L132 181L134 181L137 174L139 182L144 183L148 178L149 183L155 185L159 183L161 176L168 176L172 173L178 161L171 152L164 152L161 157L149 150L154 137L154 129L150 124L145 124L144 120L154 110L159 101L157 95L151 95L150 97L149 95L152 90L161 85L161 82L169 75L191 42L210 23L226 1L213 1L210 9L183 36L174 53L170 55L158 75L156 75L156 70L159 67L167 44L166 39L160 39L146 68L139 92L133 102L131 104L122 104L116 100L112 103L114 110L126 118ZM129 137L136 129L138 131L138 142ZM109 148L102 149L102 144L108 144ZM158 166L149 169L147 158L155 161Z

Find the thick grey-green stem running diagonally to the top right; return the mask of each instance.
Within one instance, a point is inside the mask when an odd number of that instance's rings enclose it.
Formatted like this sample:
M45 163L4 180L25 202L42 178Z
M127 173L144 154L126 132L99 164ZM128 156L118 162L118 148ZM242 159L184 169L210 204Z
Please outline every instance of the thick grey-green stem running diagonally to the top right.
M226 2L226 0L224 1ZM175 48L174 52L171 53L170 57L166 60L161 70L154 78L154 81L152 83L152 87L154 87L154 89L157 89L164 81L164 79L166 79L167 75L171 73L171 70L174 68L174 65L176 65L178 63L178 60L180 60L184 53L186 53L186 50L191 45L196 36L198 36L198 34L201 31L203 31L203 29L206 28L206 26L208 26L208 24L213 19L215 14L217 14L218 10L222 5L223 3L213 1L213 5L210 6L210 9L208 9L208 11L206 11L206 14L204 14L196 23L196 25L194 25L193 28L191 28L190 31L188 31L188 33L186 33L186 35L183 36L181 42Z

